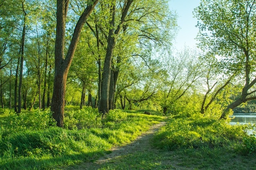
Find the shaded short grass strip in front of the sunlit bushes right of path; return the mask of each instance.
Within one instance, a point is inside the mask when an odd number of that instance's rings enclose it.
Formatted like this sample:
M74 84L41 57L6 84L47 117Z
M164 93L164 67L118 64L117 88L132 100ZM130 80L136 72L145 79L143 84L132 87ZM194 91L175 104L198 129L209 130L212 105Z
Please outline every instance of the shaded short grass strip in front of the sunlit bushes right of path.
M120 155L81 170L255 170L255 156L238 155L223 148L176 151L153 149Z

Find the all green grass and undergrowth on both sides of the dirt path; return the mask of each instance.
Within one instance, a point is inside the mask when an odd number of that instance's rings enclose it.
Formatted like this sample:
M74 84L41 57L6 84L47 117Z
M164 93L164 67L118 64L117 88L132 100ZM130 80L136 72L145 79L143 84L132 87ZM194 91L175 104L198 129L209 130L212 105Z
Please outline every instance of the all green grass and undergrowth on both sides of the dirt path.
M0 169L73 170L84 164L88 170L255 170L256 138L245 133L255 126L230 126L200 114L166 119L143 112L115 110L101 119L92 108L68 108L65 128L58 128L49 110L20 116L0 110ZM164 119L168 124L150 139L148 149L94 163Z

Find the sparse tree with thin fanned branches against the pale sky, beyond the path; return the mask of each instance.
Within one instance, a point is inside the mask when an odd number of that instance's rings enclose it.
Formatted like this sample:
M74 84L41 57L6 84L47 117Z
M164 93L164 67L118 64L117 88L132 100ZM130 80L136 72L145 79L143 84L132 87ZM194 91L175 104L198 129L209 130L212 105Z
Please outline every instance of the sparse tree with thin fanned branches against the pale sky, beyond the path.
M176 55L166 54L163 57L162 97L160 99L163 113L166 114L171 105L185 95L202 76L200 53L191 49L183 49Z

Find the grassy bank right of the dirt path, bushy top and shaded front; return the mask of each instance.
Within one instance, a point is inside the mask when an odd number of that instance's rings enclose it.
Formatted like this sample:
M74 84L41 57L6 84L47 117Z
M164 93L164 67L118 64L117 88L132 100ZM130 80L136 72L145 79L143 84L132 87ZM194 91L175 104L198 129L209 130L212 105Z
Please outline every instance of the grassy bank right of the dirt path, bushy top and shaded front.
M154 135L151 148L88 170L255 170L256 139L247 128L202 115L173 117Z

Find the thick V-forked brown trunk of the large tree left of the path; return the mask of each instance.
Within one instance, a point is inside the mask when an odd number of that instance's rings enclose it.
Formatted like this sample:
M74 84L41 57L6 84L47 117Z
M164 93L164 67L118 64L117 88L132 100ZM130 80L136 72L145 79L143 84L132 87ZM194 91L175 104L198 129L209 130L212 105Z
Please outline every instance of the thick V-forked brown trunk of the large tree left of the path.
M65 31L69 0L57 0L55 73L51 110L53 112L53 118L57 121L57 126L60 127L63 127L67 73L74 57L83 25L85 24L87 18L89 17L98 1L99 0L90 0L87 2L87 7L84 9L76 23L69 48L65 55Z

